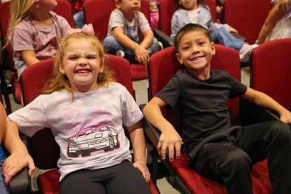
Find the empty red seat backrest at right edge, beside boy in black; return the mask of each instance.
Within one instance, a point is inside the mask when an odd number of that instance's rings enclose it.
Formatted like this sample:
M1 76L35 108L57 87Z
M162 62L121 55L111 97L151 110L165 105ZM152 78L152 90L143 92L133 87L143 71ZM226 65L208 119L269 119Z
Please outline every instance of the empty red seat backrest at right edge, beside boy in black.
M291 39L261 44L251 53L250 87L266 93L291 111Z

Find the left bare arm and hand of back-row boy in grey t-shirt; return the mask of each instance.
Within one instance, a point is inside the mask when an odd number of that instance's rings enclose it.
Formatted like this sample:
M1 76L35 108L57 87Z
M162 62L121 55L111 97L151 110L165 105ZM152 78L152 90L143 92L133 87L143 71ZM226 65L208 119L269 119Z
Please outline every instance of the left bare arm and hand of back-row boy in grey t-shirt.
M131 50L134 50L134 53L136 55L136 60L138 62L146 63L148 58L150 57L148 53L150 51L146 50L146 48L143 48L143 46L139 45L138 43L132 41L132 39L129 39L127 35L123 32L122 27L115 27L113 28L113 34L116 39L122 46L125 46L126 48L129 48Z

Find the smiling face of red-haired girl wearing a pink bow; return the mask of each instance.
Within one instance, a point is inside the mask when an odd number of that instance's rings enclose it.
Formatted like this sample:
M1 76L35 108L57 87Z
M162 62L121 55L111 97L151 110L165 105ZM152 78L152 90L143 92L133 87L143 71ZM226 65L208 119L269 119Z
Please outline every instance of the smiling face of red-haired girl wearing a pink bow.
M100 88L97 77L104 69L100 61L96 46L83 38L74 39L64 49L59 71L69 78L72 92L90 92Z

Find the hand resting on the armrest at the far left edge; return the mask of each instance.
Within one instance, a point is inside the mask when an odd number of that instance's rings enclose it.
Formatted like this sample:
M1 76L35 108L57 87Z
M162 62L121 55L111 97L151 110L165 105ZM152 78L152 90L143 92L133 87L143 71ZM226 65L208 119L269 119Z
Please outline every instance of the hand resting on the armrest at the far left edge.
M5 178L6 185L8 185L12 177L17 174L17 172L20 172L23 167L29 167L30 176L35 169L34 160L32 160L27 152L15 152L6 158L2 166L2 175Z

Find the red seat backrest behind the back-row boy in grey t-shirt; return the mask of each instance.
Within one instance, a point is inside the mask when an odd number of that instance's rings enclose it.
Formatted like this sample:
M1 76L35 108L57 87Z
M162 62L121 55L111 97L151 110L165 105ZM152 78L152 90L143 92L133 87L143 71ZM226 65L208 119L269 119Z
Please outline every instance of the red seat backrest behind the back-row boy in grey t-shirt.
M84 2L85 22L93 25L100 41L103 41L107 36L109 18L114 9L112 0L87 0ZM141 0L140 11L146 15L148 22L150 22L148 0Z

